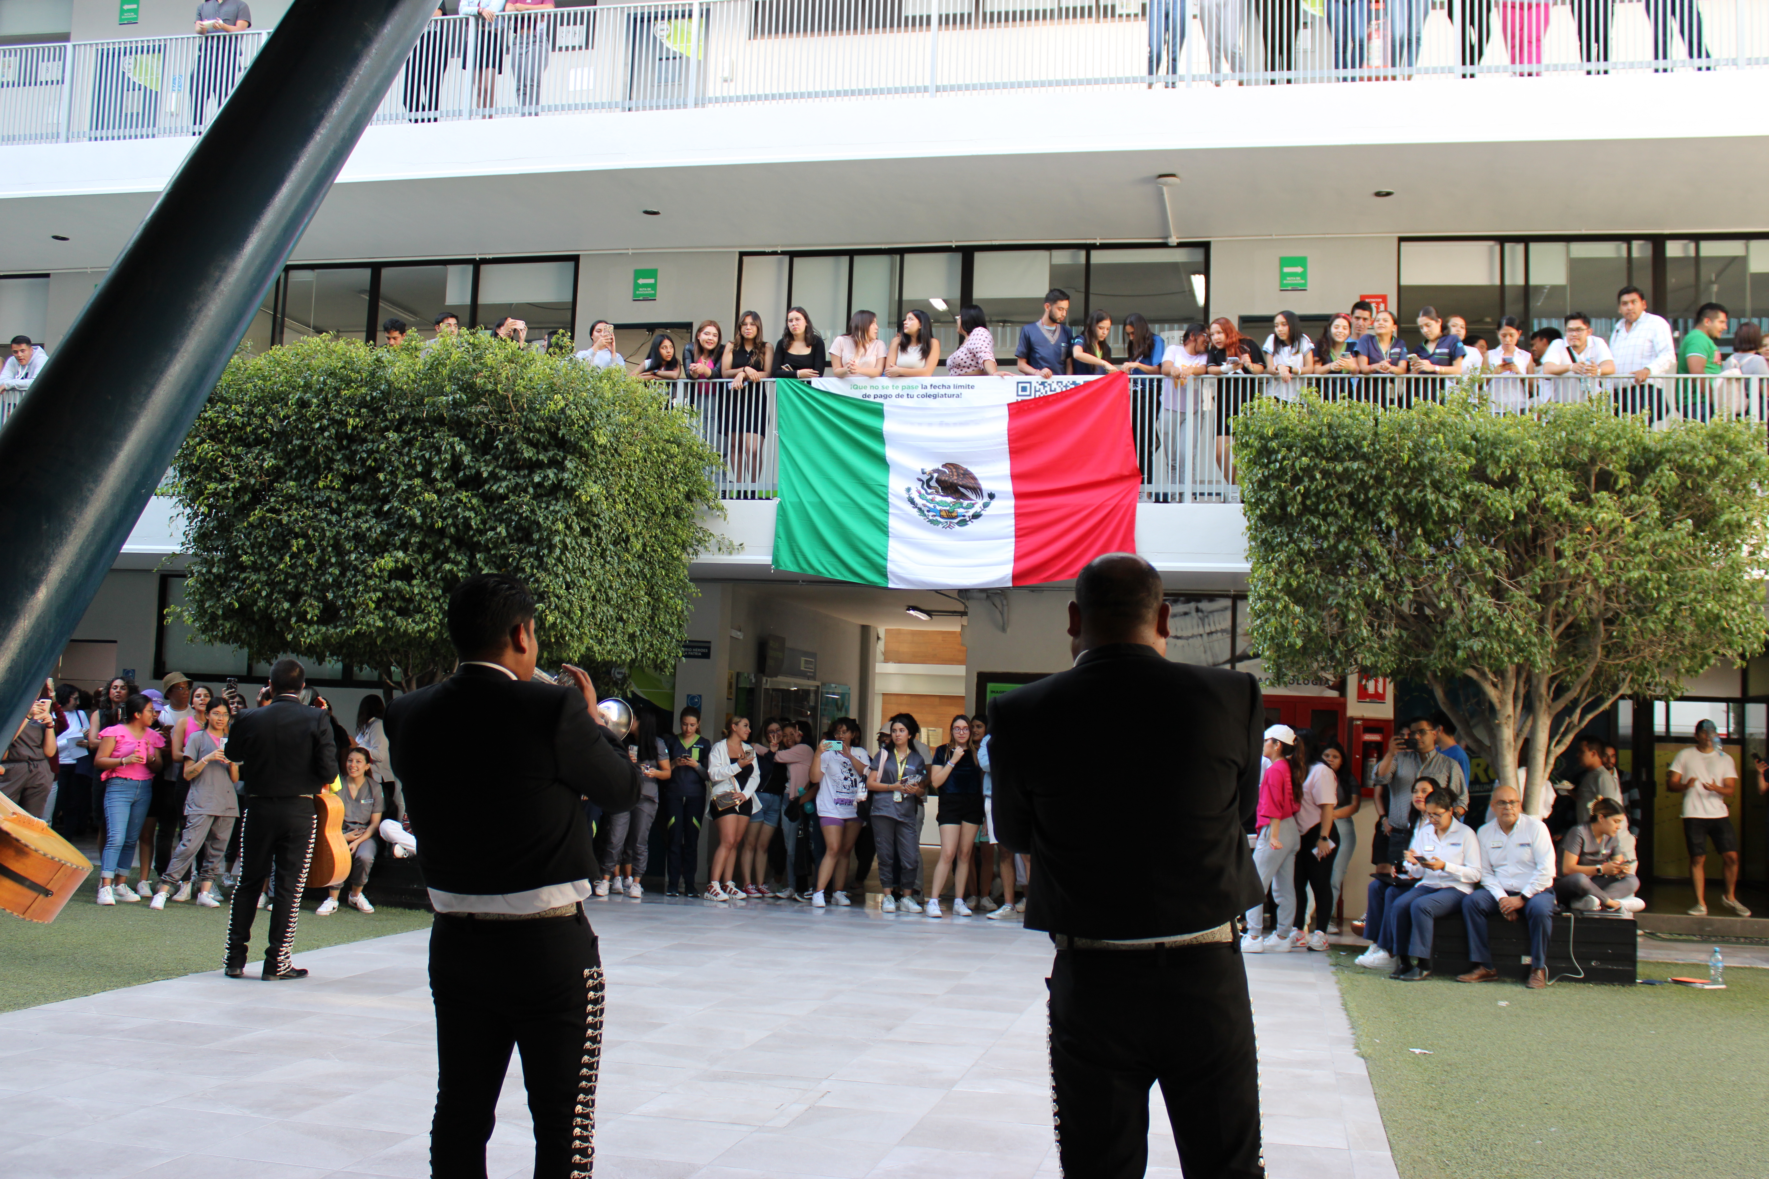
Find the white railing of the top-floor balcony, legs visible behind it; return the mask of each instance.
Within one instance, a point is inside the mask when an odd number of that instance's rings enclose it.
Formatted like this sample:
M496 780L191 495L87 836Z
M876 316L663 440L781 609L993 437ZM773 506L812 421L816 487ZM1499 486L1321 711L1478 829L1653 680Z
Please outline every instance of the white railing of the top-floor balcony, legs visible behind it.
M265 35L0 46L0 143L198 133ZM375 122L1765 65L1769 0L681 0L437 18Z

